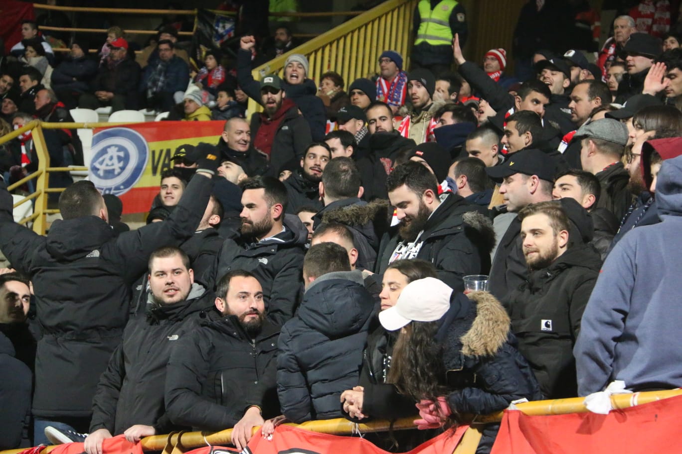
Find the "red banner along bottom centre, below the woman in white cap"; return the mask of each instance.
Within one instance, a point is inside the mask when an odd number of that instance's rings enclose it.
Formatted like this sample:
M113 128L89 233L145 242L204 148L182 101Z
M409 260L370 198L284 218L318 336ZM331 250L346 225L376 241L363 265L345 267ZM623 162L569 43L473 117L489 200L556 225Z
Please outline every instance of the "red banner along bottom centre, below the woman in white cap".
M420 444L408 454L441 454L451 453L457 447L462 435L468 429L462 425L456 431L448 431ZM372 442L364 438L337 436L310 432L308 430L280 425L275 429L272 440L265 440L258 430L251 438L245 450L249 454L279 454L279 453L353 453L353 454L388 454L379 449Z

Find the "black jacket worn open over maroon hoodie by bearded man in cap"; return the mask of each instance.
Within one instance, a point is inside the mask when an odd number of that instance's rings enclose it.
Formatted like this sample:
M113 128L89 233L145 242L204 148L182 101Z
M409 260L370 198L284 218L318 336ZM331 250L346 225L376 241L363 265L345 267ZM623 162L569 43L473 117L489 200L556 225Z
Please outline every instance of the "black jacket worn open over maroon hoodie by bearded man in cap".
M263 114L255 112L251 116L252 140L258 134L258 128L263 123ZM291 106L284 114L272 142L270 152L270 167L273 174L279 175L282 166L292 159L299 161L306 153L306 148L312 142L310 126L305 118L299 115L296 106Z

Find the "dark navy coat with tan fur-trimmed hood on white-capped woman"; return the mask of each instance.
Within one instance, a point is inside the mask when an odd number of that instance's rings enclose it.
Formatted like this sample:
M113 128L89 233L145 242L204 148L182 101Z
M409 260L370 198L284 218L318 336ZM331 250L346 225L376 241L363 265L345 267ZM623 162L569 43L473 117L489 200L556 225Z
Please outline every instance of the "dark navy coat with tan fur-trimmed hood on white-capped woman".
M533 370L516 348L509 316L490 293L453 292L436 341L443 346L443 378L451 390L447 402L460 415L488 415L522 398L542 400ZM490 451L498 429L484 428L477 453Z

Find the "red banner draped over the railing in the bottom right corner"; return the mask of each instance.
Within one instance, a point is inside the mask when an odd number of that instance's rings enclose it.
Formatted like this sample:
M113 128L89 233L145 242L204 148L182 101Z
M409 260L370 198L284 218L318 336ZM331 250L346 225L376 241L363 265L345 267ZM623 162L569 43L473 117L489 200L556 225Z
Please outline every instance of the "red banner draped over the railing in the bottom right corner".
M682 396L612 410L608 415L527 416L505 410L491 454L674 452L681 416Z

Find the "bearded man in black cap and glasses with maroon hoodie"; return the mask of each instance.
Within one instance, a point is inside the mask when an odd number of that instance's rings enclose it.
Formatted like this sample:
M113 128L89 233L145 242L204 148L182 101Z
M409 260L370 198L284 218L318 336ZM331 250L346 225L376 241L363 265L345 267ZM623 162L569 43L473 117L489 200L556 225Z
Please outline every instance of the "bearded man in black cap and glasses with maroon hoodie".
M312 142L310 125L286 97L282 80L276 75L261 80L261 104L263 112L251 120L251 137L254 148L268 155L271 167L279 172L288 161L303 158Z

